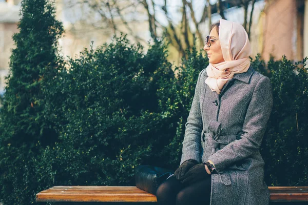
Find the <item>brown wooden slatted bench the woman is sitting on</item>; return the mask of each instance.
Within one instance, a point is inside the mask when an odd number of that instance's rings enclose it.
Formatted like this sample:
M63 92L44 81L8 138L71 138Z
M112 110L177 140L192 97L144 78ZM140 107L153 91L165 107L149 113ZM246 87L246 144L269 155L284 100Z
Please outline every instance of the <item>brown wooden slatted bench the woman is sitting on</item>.
M268 189L271 193L271 202L308 201L308 187L268 187ZM80 202L87 202L87 204L138 202L142 204L142 202L157 202L157 199L155 195L137 187L55 186L36 194L36 201L53 201L57 202L56 204L81 204Z

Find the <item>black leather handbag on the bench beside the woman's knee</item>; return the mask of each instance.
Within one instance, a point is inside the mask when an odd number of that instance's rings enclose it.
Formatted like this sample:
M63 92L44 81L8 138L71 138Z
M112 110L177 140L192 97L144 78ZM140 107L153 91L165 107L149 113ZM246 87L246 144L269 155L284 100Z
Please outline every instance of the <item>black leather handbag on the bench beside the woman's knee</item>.
M151 165L139 165L135 169L136 187L156 195L160 184L174 172L165 168Z

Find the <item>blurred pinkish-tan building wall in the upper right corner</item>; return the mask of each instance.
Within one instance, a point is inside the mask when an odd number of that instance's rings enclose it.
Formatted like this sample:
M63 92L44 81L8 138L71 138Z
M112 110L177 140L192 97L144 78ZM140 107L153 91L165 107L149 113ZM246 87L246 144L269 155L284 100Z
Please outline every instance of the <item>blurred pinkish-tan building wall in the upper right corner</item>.
M264 60L270 55L295 61L308 56L308 1L267 0L260 30L259 52Z

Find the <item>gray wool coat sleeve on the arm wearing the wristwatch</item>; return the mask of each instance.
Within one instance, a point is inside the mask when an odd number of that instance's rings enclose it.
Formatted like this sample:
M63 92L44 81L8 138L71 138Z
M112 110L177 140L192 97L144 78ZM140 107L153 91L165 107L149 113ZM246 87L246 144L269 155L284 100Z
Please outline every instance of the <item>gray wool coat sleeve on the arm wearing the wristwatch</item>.
M264 76L258 81L248 105L241 138L230 142L208 158L213 161L218 173L260 149L272 107L271 80Z

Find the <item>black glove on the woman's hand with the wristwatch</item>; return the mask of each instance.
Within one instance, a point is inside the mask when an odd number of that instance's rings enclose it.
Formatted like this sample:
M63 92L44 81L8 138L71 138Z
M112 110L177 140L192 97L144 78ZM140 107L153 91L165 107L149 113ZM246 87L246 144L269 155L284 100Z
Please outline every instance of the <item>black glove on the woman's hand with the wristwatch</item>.
M188 170L184 177L182 177L181 183L188 183L190 185L207 177L210 177L210 174L206 172L204 163L199 163Z

